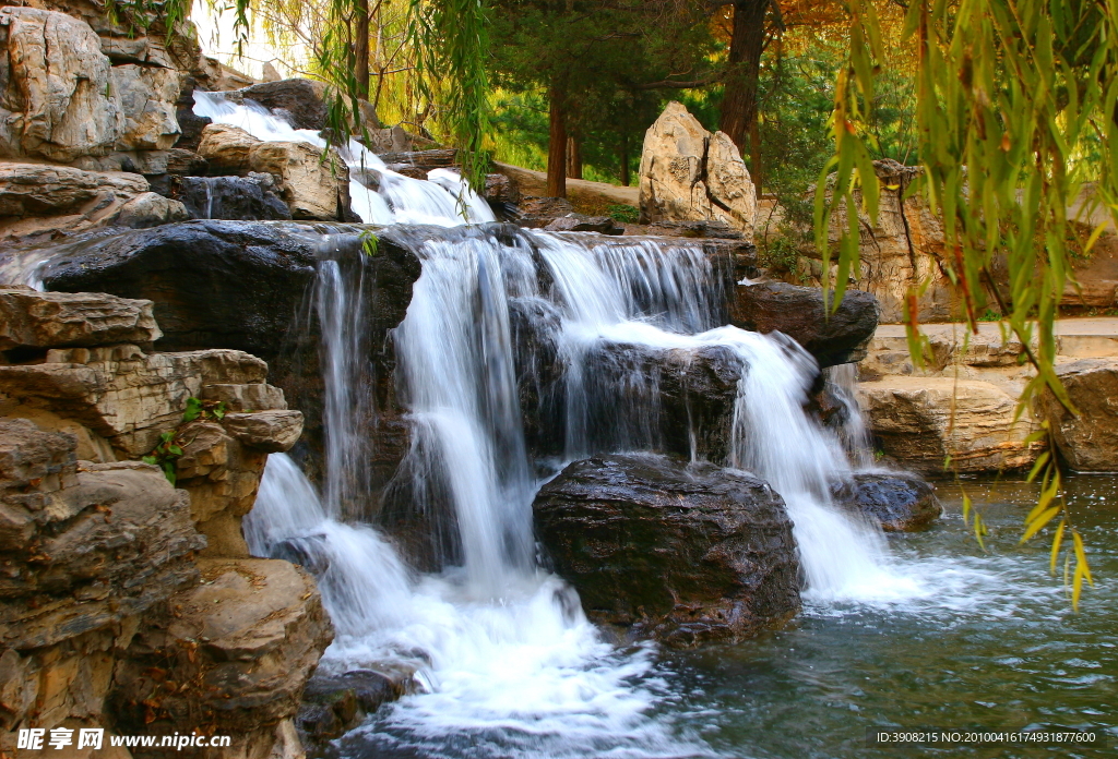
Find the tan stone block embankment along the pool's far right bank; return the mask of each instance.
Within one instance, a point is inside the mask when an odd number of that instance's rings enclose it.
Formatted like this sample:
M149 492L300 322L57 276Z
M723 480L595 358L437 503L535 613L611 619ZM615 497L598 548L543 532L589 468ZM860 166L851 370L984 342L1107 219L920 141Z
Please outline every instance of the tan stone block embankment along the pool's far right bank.
M861 364L859 397L881 453L928 473L942 472L945 462L964 473L1023 469L1044 450L1025 438L1049 421L1072 469L1118 471L1118 319L1057 325L1057 376L1078 415L1048 391L1018 410L1035 373L1023 344L1003 339L997 324L979 324L977 335L959 324L920 330L928 337L923 368L913 366L901 325L878 327Z

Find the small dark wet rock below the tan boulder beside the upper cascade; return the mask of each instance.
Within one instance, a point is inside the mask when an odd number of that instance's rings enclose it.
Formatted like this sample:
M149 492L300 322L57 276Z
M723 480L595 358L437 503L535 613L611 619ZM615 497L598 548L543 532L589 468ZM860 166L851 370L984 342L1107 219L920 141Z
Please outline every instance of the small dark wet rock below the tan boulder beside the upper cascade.
M177 196L196 219L291 219L291 209L277 194L272 174L248 176L184 176Z

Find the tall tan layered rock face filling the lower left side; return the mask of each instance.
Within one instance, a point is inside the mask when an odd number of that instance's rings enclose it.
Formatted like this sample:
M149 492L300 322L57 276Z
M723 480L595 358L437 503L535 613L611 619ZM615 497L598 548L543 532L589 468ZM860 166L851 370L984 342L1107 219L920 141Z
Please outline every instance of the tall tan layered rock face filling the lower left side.
M330 623L309 575L248 558L240 518L302 415L264 362L150 353L160 336L146 300L0 290L4 752L28 727L301 752L292 719ZM160 465L134 460L149 452Z

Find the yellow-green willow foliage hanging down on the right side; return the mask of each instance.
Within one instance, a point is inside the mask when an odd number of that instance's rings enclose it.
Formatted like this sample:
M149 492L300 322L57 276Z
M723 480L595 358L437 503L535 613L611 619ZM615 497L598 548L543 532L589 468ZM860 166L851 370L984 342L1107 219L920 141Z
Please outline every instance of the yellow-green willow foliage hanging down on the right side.
M824 277L832 268L832 215L841 218L855 208L859 188L864 211L871 217L878 212L865 104L873 95L881 40L870 0L850 0L849 9L850 58L837 77L832 124L835 154L816 190ZM1072 276L1078 232L1069 208L1086 192L1118 219L1118 0L912 0L904 36L919 48L923 175L911 192L922 193L942 219L948 253L941 266L961 296L966 320L976 332L975 315L992 299L1003 315L1003 334L1025 346L1035 377L1022 394L1018 416L1042 392L1077 413L1054 372L1053 324ZM846 215L837 247L835 304L859 267L858 214ZM1084 250L1105 227L1084 236ZM1007 276L992 273L995 261ZM830 279L824 286L831 286ZM909 304L909 348L920 362L916 292ZM1026 442L1041 440L1049 448L1030 473L1030 480L1041 478L1041 498L1025 519L1022 542L1057 523L1051 565L1054 571L1064 550L1065 579L1078 608L1083 582L1091 583L1090 568L1062 497L1046 425ZM980 513L969 499L964 511L980 542Z

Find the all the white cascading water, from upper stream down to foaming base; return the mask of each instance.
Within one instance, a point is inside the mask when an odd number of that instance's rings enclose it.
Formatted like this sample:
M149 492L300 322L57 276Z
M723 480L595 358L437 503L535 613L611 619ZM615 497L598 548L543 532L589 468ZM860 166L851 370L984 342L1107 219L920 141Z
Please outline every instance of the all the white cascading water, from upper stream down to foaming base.
M322 146L314 133L292 129L253 104L203 93L196 103L199 115L262 140ZM357 143L344 157L360 185L354 208L366 221L492 220L472 193L465 218L459 213L463 186L453 172L411 180L385 170ZM369 167L380 174L378 192L359 181ZM416 573L378 531L339 521L356 513L344 505L361 494L367 414L356 407L361 393L353 385L368 346L362 271L329 254L315 292L326 388L324 503L291 459L274 454L245 522L255 554L291 558L319 576L337 628L322 667L386 661L418 667L425 692L381 710L348 737L348 755L713 755L689 729L652 715L664 694L650 648L607 644L575 593L536 566L531 501L539 481L520 406L515 319L553 348L567 459L656 442L639 420L622 419L654 412L654 393L643 406L616 409L624 435L595 429L587 410L601 404L600 393L614 397L625 388L603 388L591 376L591 356L615 345L731 352L745 369L727 463L768 479L785 497L809 597L904 592L880 534L830 505L828 486L849 464L837 438L803 410L814 361L778 336L718 326L721 279L699 247L523 231L499 239L482 228L428 238L415 252L423 273L392 338L411 451L394 484L406 508L423 512L416 525L447 536L429 557L435 570Z

